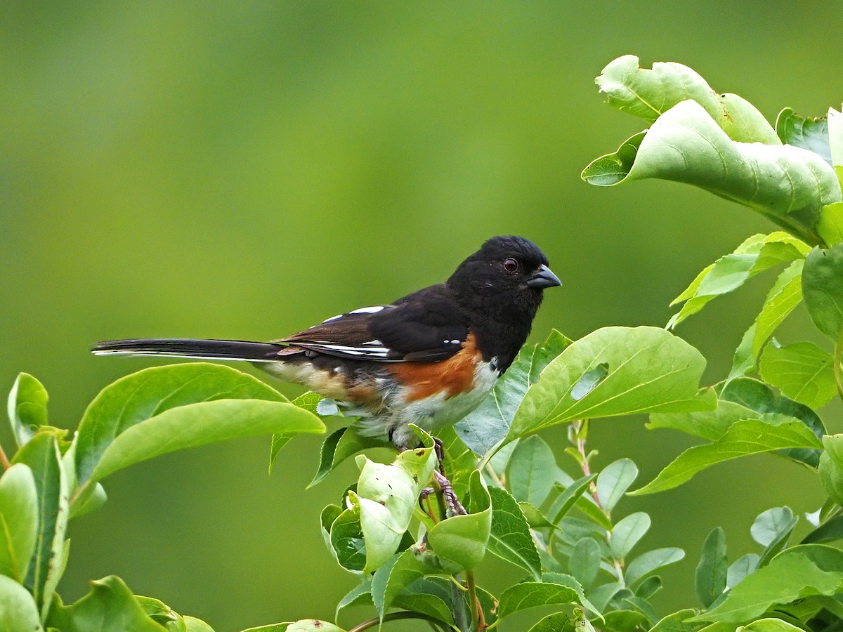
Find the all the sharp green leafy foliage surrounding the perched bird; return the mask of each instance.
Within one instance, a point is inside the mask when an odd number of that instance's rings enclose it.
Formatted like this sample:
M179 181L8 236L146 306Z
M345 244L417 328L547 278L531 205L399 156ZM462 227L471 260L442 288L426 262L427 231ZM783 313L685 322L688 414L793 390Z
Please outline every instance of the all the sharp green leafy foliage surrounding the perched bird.
M711 190L770 217L783 231L754 235L690 283L666 329L608 327L580 340L554 331L526 347L489 398L435 441L416 429L419 447L392 463L365 452L354 420L323 443L311 485L357 455L360 474L321 530L329 554L359 583L336 609L365 607L352 630L397 619L433 629L479 632L515 613L553 608L531 632L595 627L613 632L701 629L839 629L843 622L843 435L829 436L817 409L843 396L843 115L808 120L782 110L775 128L744 99L716 94L680 64L612 62L598 78L609 104L643 118L647 131L583 171L595 185L674 179ZM765 303L721 382L700 380L706 361L670 332L714 298L765 270L778 269ZM772 338L803 303L828 348ZM185 447L271 434L272 462L295 435L321 432L336 407L305 394L288 402L273 388L226 367L181 364L137 372L105 388L78 431L47 426L47 394L22 373L8 400L16 442L0 451L0 628L210 630L164 603L138 597L119 578L94 581L65 605L56 586L67 564L72 517L105 502L102 482L147 458ZM649 415L652 428L700 438L646 485L631 487L635 463L594 468L588 428L601 418ZM342 420L340 418L340 420ZM537 434L567 428L557 455ZM624 513L626 495L681 485L724 460L768 453L817 474L828 501L807 518L787 506L763 511L749 532L756 551L733 557L715 527L701 544L693 583L698 608L659 614L659 571L685 556L642 550L645 511ZM443 467L462 506L448 501ZM571 475L570 471L576 470ZM487 554L523 580L497 596L477 585ZM317 619L253 630L340 630Z

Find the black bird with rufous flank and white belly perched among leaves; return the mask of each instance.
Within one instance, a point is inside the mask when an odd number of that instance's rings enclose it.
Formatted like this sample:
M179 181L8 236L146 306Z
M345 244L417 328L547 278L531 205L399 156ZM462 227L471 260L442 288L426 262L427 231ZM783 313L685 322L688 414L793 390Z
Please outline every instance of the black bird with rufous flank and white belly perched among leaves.
M513 363L544 290L561 285L549 265L529 239L493 237L443 283L286 338L108 340L92 352L252 362L336 401L362 437L410 449L411 425L431 434L453 425Z

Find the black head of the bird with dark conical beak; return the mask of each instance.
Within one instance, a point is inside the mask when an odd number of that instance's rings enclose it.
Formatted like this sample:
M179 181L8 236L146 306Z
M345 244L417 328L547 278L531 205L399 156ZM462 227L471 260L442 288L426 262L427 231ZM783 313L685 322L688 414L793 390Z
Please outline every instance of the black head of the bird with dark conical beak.
M526 322L529 332L542 291L561 285L547 265L545 253L529 239L493 237L459 264L448 287L471 311Z

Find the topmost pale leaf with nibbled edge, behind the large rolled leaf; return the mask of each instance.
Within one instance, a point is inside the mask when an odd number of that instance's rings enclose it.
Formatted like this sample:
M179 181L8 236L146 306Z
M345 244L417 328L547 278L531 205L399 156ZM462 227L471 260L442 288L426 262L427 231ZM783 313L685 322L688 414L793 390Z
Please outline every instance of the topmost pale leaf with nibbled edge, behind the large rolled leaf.
M733 140L781 144L752 104L737 94L717 94L699 74L679 63L655 62L647 70L639 67L638 57L625 55L610 62L596 83L609 105L645 121L656 121L680 101L693 99Z

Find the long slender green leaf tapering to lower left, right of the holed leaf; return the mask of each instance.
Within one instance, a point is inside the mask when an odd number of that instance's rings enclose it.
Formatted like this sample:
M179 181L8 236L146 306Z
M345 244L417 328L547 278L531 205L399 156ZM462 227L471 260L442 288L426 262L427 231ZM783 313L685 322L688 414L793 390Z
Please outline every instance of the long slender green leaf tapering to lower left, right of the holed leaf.
M715 442L690 447L669 463L658 476L631 495L654 494L682 485L695 474L733 458L781 450L788 447L819 447L819 439L802 421L772 425L758 419L736 421Z

